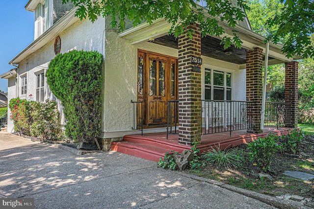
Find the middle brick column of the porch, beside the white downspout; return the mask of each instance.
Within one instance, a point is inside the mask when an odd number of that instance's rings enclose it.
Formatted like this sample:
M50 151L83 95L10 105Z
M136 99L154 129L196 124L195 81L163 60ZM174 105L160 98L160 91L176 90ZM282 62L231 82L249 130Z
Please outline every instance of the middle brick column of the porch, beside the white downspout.
M262 48L253 48L246 51L246 100L247 119L249 133L262 133L261 110L262 110Z

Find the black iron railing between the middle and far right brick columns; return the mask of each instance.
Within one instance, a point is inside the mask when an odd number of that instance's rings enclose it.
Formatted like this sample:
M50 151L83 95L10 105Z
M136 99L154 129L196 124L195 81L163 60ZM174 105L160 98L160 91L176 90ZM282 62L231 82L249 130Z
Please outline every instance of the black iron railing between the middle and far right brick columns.
M289 126L291 125L291 103L266 102L264 126Z

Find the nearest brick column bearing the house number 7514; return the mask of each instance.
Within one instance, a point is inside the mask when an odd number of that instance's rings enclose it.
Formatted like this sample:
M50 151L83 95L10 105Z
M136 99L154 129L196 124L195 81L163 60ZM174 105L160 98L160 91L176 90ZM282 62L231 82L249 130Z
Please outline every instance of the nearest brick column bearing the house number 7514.
M193 39L183 34L179 45L179 143L191 145L201 141L202 102L201 73L192 71L191 56L201 57L201 34L196 24L189 26Z

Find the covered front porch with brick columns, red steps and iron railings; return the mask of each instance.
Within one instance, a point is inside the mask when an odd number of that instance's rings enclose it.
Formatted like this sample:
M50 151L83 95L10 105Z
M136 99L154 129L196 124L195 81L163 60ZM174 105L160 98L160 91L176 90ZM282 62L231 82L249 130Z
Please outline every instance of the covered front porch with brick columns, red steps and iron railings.
M243 41L242 48L224 49L220 45L221 37L201 37L198 24L191 23L190 29L194 31L192 39L187 34L175 38L168 35L169 24L158 20L119 33L131 45L139 46L137 99L131 101L132 129L143 133L144 127L147 134L126 135L124 142L112 142L112 150L129 154L138 150L138 154L133 155L140 157L144 150L151 149L155 150L152 153L162 153L150 159L156 161L166 152L189 149L193 141L200 143L201 151L218 144L223 149L272 132L287 134L288 127L296 127L298 63L293 59L297 57L287 58L280 45L267 46L264 37L254 33L248 24L236 26ZM232 28L226 31L229 30ZM177 56L166 57L142 50L140 43L143 42L176 49ZM262 67L279 63L286 65L286 102L280 105L284 108L268 103L272 108L263 109L262 106L267 105L262 105L265 86ZM164 66L173 70L169 70L169 75L170 72L174 74L169 76L167 83L163 82L167 71ZM236 80L233 76L244 77L244 80ZM145 78L146 82L143 82ZM241 101L237 101L238 98ZM275 113L276 118L269 115ZM262 115L265 121L262 121ZM263 128L265 122L268 126ZM166 127L167 131L149 134L147 130L153 130L152 125ZM173 132L176 135L172 135Z

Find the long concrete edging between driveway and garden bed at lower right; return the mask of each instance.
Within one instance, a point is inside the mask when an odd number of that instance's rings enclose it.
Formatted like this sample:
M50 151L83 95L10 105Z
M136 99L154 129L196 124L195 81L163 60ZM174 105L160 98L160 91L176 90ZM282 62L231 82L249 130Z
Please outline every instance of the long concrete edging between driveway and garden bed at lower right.
M187 173L182 173L179 171L172 171L172 172L177 172L179 175L181 176L185 176L197 181L202 181L202 182L207 182L209 184L213 184L225 189L228 189L230 191L236 192L238 194L242 194L245 195L247 197L251 197L253 199L259 200L263 203L266 203L270 206L276 207L278 209L312 209L308 206L304 206L302 203L296 202L296 201L291 201L291 200L284 200L284 199L278 199L276 197L272 197L272 196L268 196L265 194L261 194L255 191L249 191L246 189L242 189L236 186L231 186L228 184L224 184L215 180L210 180L210 179L205 179L203 177L198 177L198 176L194 176L191 174L187 174Z

